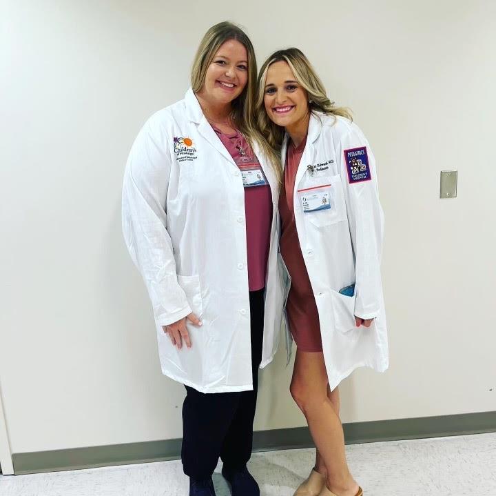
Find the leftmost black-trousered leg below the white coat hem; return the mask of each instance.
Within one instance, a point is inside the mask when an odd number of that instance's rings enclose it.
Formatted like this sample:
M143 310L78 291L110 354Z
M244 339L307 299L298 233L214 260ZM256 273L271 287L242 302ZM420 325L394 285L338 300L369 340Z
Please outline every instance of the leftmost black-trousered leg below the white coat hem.
M238 408L240 393L200 393L186 386L183 404L183 470L192 479L209 479L223 439Z

